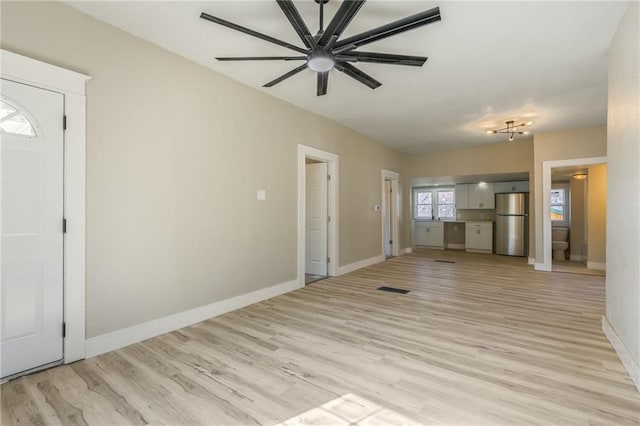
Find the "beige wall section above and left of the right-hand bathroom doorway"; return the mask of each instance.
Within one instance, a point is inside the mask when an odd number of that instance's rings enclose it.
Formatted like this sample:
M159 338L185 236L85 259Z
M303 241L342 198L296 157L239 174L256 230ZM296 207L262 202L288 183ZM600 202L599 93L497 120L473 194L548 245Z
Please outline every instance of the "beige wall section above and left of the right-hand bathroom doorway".
M604 157L607 155L607 129L593 127L541 133L533 138L533 205L535 206L536 263L543 262L542 247L542 163L552 160ZM533 235L533 234L532 234Z

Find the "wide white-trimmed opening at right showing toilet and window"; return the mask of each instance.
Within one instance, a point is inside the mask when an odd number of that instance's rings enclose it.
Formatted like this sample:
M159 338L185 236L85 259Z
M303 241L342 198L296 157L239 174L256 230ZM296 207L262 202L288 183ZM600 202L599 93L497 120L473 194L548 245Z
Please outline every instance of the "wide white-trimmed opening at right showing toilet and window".
M544 270L605 275L606 158L543 163Z

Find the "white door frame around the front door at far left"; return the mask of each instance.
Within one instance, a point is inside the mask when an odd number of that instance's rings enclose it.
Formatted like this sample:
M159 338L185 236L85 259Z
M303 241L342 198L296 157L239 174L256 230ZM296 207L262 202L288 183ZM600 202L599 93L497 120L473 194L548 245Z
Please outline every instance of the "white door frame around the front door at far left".
M0 49L0 76L64 96L63 338L64 363L85 357L86 95L88 75Z

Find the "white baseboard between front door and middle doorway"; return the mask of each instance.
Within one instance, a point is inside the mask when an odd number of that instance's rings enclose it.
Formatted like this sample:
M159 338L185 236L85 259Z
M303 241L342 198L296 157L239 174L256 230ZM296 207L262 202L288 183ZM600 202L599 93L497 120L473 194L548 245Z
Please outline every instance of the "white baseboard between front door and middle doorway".
M101 336L91 337L86 342L86 358L114 351L134 343L141 342L160 334L169 333L192 324L196 324L227 312L279 296L300 288L298 280L293 280L251 293L221 300L210 305L200 306L188 311L169 315L164 318L147 321Z

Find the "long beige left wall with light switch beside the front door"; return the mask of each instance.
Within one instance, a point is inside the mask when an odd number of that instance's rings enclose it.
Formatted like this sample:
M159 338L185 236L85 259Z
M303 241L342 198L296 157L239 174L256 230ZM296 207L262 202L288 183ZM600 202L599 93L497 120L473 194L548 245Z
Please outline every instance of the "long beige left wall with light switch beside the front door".
M1 36L93 77L87 337L294 280L299 143L340 156L340 264L382 255L401 154L61 3L2 2Z

